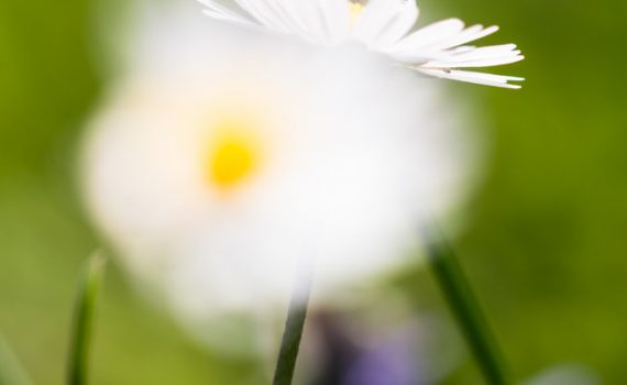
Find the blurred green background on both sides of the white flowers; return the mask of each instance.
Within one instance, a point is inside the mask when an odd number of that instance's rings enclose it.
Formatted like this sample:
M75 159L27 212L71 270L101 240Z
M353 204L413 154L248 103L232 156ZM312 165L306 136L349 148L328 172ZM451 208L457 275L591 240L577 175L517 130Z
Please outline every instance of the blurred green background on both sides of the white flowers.
M106 87L95 34L107 1L0 1L0 332L37 384L63 382L76 276L98 246L75 145ZM479 108L491 148L453 242L510 371L575 364L627 384L627 3L420 6L428 21L499 24L483 43L527 56L502 69L528 79L519 91L450 85ZM429 271L398 285L417 312L449 317ZM238 384L255 365L191 343L116 264L98 326L95 384ZM481 383L468 356L446 380Z

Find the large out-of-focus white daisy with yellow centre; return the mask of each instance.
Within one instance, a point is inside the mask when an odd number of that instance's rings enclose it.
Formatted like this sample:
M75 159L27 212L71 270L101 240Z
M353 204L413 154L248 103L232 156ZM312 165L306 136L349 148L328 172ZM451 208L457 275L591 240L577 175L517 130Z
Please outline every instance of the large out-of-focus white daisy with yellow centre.
M130 271L186 322L283 315L310 255L320 298L392 271L463 194L469 143L438 84L194 12L153 10L136 29L86 136L82 187Z

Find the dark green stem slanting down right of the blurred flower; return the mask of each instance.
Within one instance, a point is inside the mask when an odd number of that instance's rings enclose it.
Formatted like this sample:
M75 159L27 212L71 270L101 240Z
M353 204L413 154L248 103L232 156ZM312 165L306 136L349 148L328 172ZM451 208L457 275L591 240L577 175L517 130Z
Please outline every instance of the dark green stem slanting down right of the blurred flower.
M441 230L426 237L429 264L490 385L507 385L504 360L457 255Z

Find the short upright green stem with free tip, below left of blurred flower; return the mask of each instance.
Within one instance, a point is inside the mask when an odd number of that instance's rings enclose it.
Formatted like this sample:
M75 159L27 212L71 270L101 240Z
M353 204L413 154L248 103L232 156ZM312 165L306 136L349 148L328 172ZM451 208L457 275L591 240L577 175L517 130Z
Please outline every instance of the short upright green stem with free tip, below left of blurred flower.
M80 277L70 333L68 385L85 385L87 383L94 311L105 273L105 264L106 258L100 253L95 253L87 261Z

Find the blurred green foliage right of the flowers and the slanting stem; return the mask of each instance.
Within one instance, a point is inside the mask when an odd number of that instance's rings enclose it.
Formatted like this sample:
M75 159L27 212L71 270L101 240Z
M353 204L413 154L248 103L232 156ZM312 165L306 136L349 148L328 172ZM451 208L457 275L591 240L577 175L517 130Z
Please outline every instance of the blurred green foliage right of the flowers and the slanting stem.
M493 157L458 240L510 366L578 362L627 383L627 4L443 2L527 55L507 68L521 92L482 90Z

